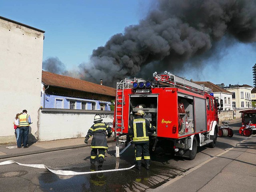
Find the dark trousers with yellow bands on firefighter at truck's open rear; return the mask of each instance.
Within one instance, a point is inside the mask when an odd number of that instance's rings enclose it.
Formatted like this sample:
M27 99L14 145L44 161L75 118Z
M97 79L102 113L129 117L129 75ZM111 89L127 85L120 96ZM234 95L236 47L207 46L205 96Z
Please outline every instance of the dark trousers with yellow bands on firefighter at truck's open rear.
M149 142L135 144L135 164L141 166L142 154L146 165L150 164L150 154L148 152Z

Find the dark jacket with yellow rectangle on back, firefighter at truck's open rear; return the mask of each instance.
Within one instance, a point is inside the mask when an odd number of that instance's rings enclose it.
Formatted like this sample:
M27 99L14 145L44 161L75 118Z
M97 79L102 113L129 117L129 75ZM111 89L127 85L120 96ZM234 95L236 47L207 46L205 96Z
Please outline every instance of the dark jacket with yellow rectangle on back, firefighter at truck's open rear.
M148 131L154 131L155 126L152 126L150 122L141 116L136 116L129 123L128 134L132 138L135 144L147 143L149 141Z

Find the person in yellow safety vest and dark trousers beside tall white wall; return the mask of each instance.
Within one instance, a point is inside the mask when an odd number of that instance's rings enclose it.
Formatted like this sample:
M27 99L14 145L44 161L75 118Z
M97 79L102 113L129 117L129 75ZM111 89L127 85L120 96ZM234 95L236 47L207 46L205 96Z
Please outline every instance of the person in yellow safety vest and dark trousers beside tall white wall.
M22 114L20 114L18 118L19 127L20 127L20 135L18 138L17 148L21 148L21 140L23 138L23 147L28 148L28 132L29 132L29 125L31 124L30 115L27 114L27 110L24 109Z

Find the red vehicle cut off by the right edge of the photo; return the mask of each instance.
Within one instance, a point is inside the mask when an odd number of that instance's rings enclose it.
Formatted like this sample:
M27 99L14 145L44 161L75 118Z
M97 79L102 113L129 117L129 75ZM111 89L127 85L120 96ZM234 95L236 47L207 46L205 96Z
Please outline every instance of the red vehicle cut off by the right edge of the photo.
M242 113L242 127L239 129L240 135L251 136L252 132L256 130L256 110L243 110Z

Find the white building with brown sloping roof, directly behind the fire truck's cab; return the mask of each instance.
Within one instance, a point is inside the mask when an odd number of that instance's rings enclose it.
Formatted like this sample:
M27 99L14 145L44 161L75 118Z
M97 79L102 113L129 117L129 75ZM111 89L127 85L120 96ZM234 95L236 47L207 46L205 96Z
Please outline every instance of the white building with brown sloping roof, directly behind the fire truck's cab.
M205 87L208 87L212 89L212 93L216 99L218 99L218 103L220 103L220 100L223 100L223 110L229 111L233 110L232 108L232 93L228 90L225 90L221 88L218 85L215 85L209 81L194 81L196 84L204 85ZM224 85L224 84L223 84Z

